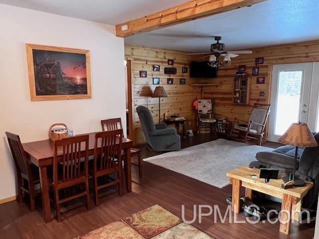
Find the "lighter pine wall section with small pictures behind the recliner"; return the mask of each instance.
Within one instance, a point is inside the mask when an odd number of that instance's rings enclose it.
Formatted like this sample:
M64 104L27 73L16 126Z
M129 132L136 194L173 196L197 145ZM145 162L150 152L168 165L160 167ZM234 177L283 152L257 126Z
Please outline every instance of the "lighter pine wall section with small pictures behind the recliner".
M150 109L156 123L159 121L159 99L152 98L152 93L157 86L163 86L167 98L160 99L160 118L164 114L179 114L185 117L187 128L194 129L196 124L196 114L192 108L192 102L200 97L200 88L189 86L195 83L189 78L189 60L183 52L146 48L141 46L126 45L125 57L131 60L132 66L132 95L133 95L133 128L135 131L134 140L136 144L144 143L145 137L141 128L136 108L146 106ZM173 59L174 65L167 65L167 60ZM153 71L153 65L160 65L160 72ZM165 75L164 67L176 67L176 75ZM188 67L188 73L182 73L182 67ZM140 77L140 71L147 71L147 78ZM160 78L160 85L153 85L153 78ZM173 85L167 85L167 78L173 78ZM179 84L179 79L186 79L185 85ZM190 122L190 126L189 126Z

